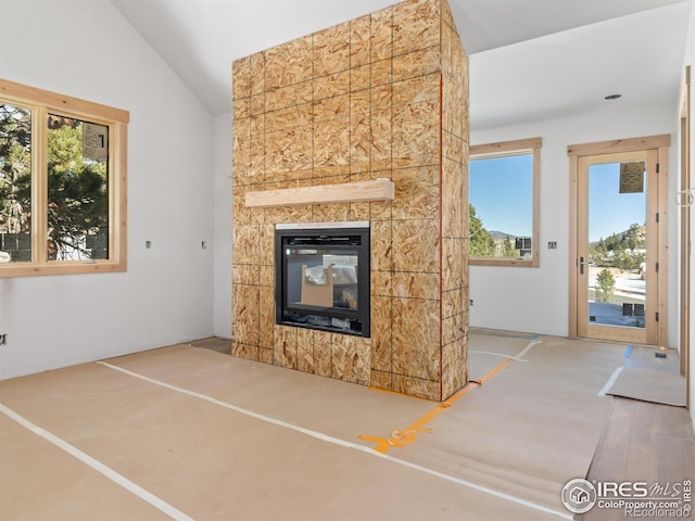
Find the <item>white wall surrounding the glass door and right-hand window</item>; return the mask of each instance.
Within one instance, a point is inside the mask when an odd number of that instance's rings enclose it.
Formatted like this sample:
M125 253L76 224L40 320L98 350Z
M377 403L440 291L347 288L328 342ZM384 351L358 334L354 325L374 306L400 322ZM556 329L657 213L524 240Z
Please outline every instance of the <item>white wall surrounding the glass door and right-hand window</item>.
M644 106L623 111L620 103L606 104L602 113L536 122L529 125L472 131L471 144L541 137L540 267L470 267L470 326L566 336L569 313L569 160L567 145L610 139L670 134L671 191L675 193L678 119L674 107ZM673 201L674 198L669 198ZM673 212L669 212L671 215ZM675 244L675 220L669 244ZM547 250L557 241L557 250ZM675 313L677 254L669 259L669 344L678 342Z

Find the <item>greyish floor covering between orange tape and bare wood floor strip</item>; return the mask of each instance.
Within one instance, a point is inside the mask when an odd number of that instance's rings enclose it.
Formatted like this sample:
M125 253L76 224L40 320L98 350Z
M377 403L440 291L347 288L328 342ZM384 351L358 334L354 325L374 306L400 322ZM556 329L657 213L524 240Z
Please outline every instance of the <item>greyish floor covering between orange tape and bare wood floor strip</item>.
M597 393L624 347L532 342L527 361L506 364L399 457L563 510L563 485L589 470L610 406Z

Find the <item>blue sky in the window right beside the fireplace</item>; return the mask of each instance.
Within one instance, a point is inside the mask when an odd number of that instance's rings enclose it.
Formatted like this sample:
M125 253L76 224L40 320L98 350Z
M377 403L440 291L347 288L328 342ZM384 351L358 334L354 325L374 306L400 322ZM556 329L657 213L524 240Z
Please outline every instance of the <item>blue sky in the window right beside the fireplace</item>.
M531 237L533 229L533 156L509 155L471 161L470 204L488 231Z

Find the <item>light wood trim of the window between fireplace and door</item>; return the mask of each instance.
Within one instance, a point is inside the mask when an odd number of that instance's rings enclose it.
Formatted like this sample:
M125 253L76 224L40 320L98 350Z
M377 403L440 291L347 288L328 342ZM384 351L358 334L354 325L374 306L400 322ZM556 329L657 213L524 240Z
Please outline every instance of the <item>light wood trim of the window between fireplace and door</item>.
M501 157L505 155L516 155L519 153L533 154L533 225L531 232L531 259L518 258L491 258L491 257L469 257L470 266L514 266L525 268L538 268L540 266L540 193L541 193L541 138L517 139L513 141L500 141L495 143L472 144L469 150L469 162L473 160Z

